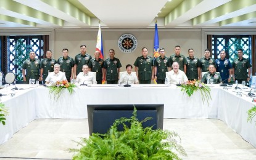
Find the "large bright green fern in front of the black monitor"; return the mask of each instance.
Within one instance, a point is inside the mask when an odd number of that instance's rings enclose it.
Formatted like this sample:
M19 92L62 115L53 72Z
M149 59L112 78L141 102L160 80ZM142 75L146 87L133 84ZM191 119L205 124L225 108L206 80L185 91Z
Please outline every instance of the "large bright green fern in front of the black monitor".
M178 154L187 156L178 144L178 134L169 130L152 130L152 127L143 128L142 123L151 118L139 122L136 117L134 108L131 118L115 120L107 134L81 138L81 142L76 142L80 149L68 149L76 152L73 159L180 159ZM117 129L119 125L123 126L122 131Z

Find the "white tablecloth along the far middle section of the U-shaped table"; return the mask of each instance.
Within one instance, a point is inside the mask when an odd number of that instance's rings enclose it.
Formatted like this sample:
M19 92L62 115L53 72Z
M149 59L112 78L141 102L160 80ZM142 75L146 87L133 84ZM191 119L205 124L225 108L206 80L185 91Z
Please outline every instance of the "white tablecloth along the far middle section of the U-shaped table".
M212 89L212 100L202 103L200 92L191 97L177 87L81 87L70 96L65 92L59 100L51 100L49 90L35 90L36 118L87 118L89 105L105 104L164 104L164 118L217 118L218 89Z

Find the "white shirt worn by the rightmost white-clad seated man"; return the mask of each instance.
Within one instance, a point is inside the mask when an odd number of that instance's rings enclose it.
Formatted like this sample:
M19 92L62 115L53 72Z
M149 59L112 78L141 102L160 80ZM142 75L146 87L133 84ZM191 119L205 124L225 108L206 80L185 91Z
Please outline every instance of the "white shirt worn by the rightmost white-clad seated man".
M175 73L173 70L168 71L166 74L167 82L168 84L179 84L179 82L184 83L188 82L188 78L184 71L178 70L177 73Z

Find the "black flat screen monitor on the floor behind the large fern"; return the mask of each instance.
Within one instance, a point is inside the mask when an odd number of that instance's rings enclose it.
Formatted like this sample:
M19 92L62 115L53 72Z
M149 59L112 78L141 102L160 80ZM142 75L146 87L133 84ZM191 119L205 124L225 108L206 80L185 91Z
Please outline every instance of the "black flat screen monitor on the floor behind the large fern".
M137 118L152 119L142 123L142 127L153 126L152 129L163 129L163 104L134 105L137 108ZM105 134L115 119L130 118L133 115L133 105L87 105L89 134ZM122 125L118 127L122 130Z

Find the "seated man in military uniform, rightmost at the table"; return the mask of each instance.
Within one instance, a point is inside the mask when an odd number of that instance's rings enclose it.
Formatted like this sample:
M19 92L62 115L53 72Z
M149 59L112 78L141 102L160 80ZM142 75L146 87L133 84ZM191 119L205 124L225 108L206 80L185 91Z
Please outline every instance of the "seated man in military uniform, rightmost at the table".
M215 72L215 66L209 65L209 71L204 74L203 78L201 79L201 82L207 83L208 79L213 79L213 84L222 84L222 79L220 77L220 73Z

